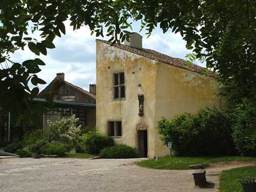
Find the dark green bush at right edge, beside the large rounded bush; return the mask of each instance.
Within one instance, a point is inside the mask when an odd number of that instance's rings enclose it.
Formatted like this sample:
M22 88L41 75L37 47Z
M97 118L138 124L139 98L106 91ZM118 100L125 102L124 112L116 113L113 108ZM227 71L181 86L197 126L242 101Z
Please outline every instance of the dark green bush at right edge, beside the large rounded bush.
M230 114L233 121L233 138L241 155L256 156L255 103L245 102Z

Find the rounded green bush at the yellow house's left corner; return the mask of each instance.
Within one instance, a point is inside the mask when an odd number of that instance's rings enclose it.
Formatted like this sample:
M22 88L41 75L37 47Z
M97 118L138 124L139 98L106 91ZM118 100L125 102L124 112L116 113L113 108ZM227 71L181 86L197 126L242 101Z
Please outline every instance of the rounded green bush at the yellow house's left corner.
M89 131L82 137L82 141L85 144L86 152L90 154L99 154L101 149L114 145L114 140L111 137L96 131Z

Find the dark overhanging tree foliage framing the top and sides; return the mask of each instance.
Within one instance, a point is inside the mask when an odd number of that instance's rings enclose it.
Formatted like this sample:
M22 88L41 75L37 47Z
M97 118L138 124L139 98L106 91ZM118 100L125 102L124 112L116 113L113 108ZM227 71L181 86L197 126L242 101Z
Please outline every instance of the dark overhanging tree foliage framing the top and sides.
M256 90L255 11L254 0L2 0L0 105L15 117L30 119L42 112L29 100L38 95L38 84L45 84L36 75L45 64L39 58L14 63L10 53L28 46L35 55L46 55L55 48L55 37L65 34L65 20L74 30L89 26L96 36L103 36L105 29L113 43L129 40L130 21L141 21L148 36L158 25L163 33L180 33L195 58L218 71L224 85L232 86L231 94L252 97ZM35 32L40 33L39 39L32 38ZM35 87L30 89L29 83Z

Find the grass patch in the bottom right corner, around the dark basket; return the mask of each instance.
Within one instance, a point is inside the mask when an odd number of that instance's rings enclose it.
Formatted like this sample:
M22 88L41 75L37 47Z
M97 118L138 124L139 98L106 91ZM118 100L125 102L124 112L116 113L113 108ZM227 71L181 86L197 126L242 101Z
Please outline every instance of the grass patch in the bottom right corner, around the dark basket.
M256 177L256 166L245 166L223 171L220 175L220 192L242 192L242 185L238 179L251 177Z

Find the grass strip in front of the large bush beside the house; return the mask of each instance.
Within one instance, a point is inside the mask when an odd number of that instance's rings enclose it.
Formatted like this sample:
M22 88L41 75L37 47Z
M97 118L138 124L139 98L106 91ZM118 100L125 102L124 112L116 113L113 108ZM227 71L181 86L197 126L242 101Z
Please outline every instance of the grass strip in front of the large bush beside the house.
M138 162L137 165L153 169L189 169L189 165L202 163L217 163L217 162L231 162L231 161L252 161L256 158L243 156L221 156L221 157L165 157L144 160Z

